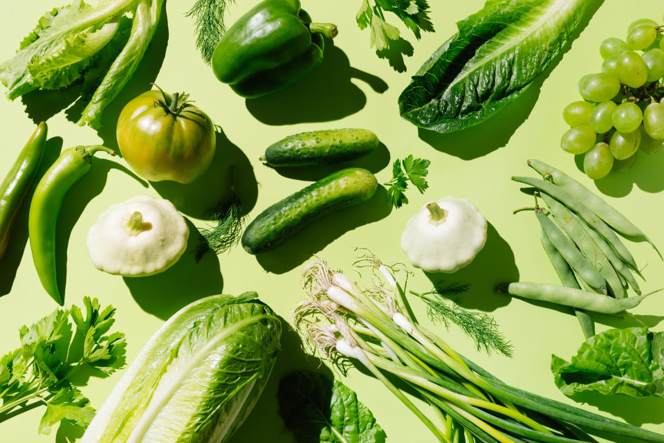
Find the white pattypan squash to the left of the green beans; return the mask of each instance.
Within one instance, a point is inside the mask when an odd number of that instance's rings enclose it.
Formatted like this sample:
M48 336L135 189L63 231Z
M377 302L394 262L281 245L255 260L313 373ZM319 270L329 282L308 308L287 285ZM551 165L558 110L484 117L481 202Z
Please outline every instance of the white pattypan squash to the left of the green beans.
M427 272L461 269L486 243L486 219L466 199L444 197L422 207L406 225L401 248Z

